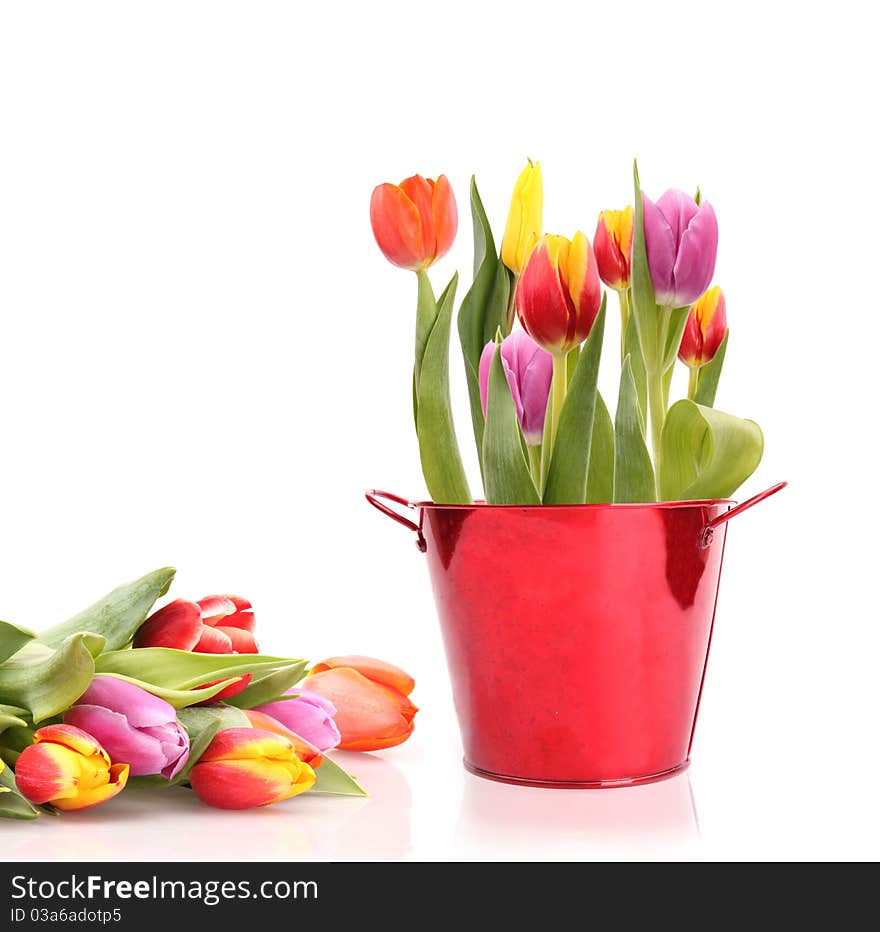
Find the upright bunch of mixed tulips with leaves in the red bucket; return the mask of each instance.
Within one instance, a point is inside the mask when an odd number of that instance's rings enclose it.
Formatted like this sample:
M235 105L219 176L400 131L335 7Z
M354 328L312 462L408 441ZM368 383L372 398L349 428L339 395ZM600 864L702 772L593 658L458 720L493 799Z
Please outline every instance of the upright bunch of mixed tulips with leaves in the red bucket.
M758 425L714 407L728 340L712 285L715 212L699 190L650 200L637 167L634 182L634 206L602 211L590 244L581 232L543 232L541 168L529 162L499 253L471 180L474 278L458 335L490 504L727 498L760 462ZM428 490L438 503L470 503L449 392L458 275L435 297L427 273L455 238L452 189L442 175L379 185L370 218L386 258L418 280L413 410ZM621 317L613 418L598 390L601 282L617 292ZM677 359L688 392L670 405Z

